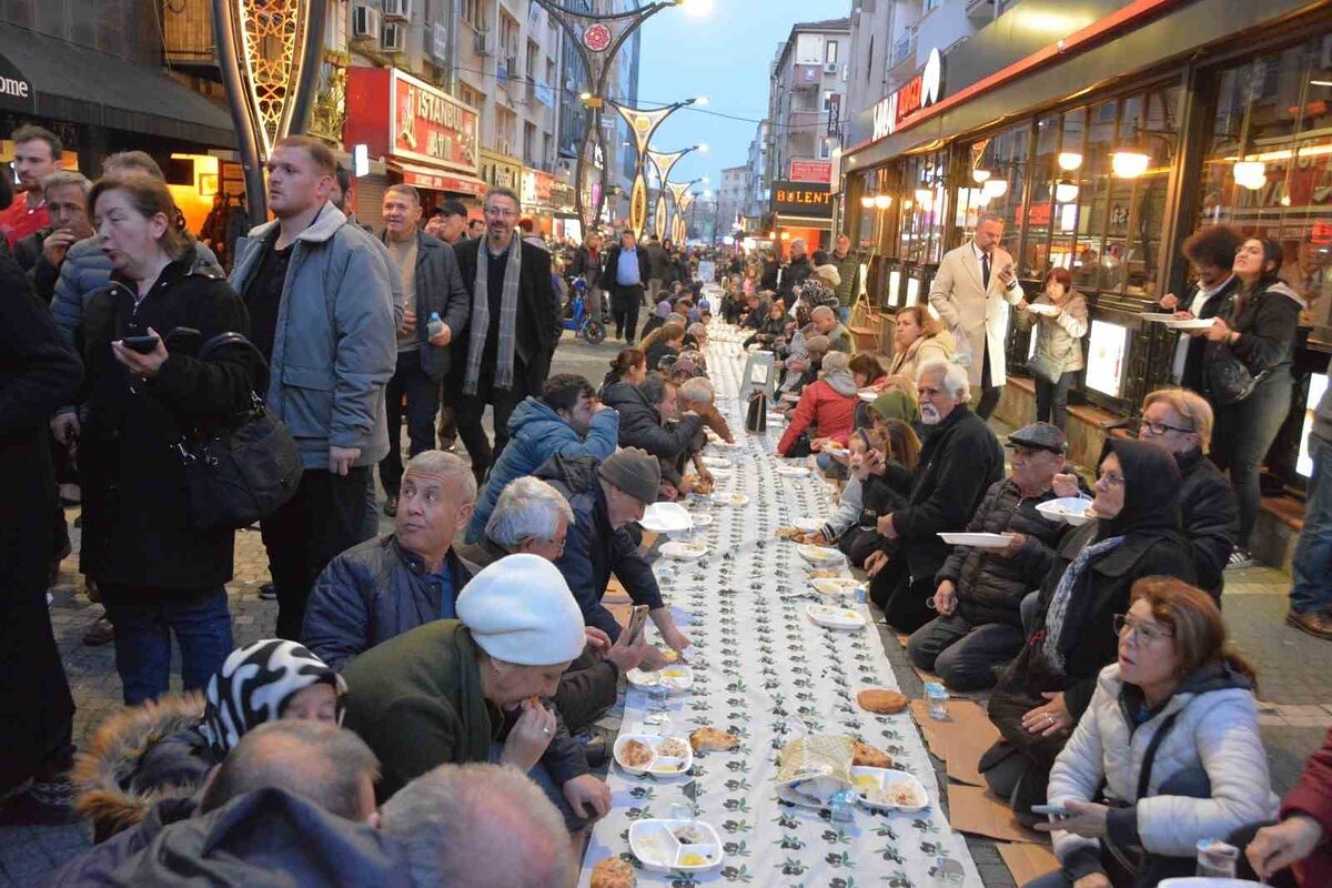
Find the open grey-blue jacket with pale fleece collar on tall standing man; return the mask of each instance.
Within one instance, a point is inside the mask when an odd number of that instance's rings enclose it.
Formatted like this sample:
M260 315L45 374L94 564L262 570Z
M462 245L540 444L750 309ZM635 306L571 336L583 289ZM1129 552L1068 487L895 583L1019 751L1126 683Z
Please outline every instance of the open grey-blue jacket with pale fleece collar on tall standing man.
M278 222L236 250L232 289L246 296ZM292 245L269 362L268 407L286 425L306 469L328 469L329 447L358 447L357 466L389 453L384 387L398 366L393 285L385 250L325 204Z

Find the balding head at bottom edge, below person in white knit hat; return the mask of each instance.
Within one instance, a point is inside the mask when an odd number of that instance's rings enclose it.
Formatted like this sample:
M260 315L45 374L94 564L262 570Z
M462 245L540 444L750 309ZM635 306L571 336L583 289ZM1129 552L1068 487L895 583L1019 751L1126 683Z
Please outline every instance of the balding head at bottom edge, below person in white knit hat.
M578 865L563 819L525 774L441 764L384 804L386 836L416 888L573 888Z

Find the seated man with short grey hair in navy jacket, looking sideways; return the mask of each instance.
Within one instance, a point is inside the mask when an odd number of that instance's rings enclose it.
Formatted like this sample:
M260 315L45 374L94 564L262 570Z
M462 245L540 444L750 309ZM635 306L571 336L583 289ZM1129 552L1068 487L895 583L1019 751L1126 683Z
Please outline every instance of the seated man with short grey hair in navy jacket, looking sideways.
M437 619L453 619L476 572L453 551L472 518L477 482L460 457L426 450L408 462L394 533L334 556L310 592L305 647L341 672L358 654Z

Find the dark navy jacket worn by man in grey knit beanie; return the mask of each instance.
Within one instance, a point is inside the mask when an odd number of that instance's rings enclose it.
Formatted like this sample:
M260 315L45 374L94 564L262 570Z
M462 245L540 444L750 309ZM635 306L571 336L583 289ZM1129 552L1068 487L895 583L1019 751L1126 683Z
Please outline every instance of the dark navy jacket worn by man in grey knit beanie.
M555 454L533 474L554 485L574 510L574 523L569 526L565 551L555 567L578 600L583 623L595 626L614 640L619 638L619 623L601 603L611 574L619 579L635 604L657 610L665 607L665 603L657 576L638 554L638 543L629 530L610 526L606 494L597 475L599 465L601 461L595 457L569 458Z

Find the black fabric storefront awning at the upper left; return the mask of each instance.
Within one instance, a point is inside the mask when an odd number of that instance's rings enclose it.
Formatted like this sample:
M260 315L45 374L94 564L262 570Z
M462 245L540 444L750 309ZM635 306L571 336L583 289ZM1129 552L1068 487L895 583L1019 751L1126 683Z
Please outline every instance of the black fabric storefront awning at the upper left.
M226 108L160 69L12 25L0 28L0 111L236 146Z

